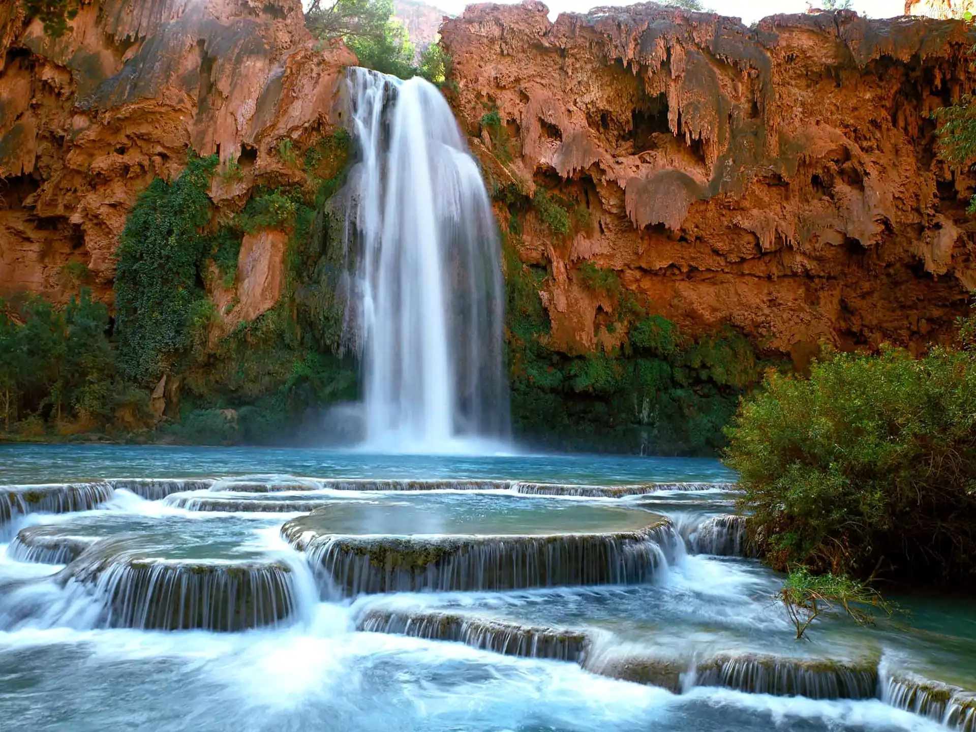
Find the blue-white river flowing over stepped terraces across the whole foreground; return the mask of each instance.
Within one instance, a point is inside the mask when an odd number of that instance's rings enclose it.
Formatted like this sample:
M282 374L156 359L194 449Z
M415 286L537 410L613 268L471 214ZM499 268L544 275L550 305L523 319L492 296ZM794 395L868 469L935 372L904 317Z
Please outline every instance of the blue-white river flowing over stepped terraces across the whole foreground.
M809 641L707 460L0 446L0 719L973 729L960 602ZM12 726L7 726L8 722Z

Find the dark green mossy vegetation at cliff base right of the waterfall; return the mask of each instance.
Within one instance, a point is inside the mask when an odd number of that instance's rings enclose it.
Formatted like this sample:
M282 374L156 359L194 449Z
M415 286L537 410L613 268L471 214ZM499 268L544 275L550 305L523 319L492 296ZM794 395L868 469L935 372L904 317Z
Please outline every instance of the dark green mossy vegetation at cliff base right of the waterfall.
M547 224L569 230L568 210L552 196L537 194L532 203ZM554 215L555 208L563 216ZM749 341L731 328L686 336L638 304L614 272L584 263L583 281L615 302L618 319L606 328L625 332L624 345L583 355L553 350L540 297L549 271L519 261L514 214L511 222L504 252L515 434L549 448L586 451L710 455L723 446L722 427L768 365Z

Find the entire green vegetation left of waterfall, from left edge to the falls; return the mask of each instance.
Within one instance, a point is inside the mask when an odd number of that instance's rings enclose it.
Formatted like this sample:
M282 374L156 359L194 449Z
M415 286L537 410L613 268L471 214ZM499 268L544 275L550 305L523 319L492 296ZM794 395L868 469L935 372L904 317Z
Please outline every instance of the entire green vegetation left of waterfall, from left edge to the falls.
M81 287L87 270L77 263L64 268L77 290L64 307L39 297L0 303L3 431L274 442L309 410L354 398L355 364L339 355L341 218L327 205L345 180L348 142L339 132L305 145L306 184L259 186L222 222L209 196L217 158L191 152L183 174L151 183L129 214L114 322ZM215 292L234 287L245 233L264 229L290 237L284 291L228 331L233 302L217 312Z

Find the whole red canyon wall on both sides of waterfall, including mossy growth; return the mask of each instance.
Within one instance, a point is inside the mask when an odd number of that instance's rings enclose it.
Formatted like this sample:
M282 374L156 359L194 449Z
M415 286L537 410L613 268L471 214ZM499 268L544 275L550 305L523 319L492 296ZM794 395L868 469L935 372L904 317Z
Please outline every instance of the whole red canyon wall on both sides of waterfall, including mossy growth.
M348 170L345 45L315 42L300 0L82 0L59 39L20 7L0 0L0 298L84 284L112 305L127 218L165 239L140 193L194 150L206 251L181 250L193 228L172 249L201 307L126 378L187 439L239 411L235 439L281 441L354 399L325 203ZM931 113L973 90L969 27L654 4L550 22L536 2L446 20L443 91L503 238L516 435L709 454L769 365L951 341L976 177L940 158ZM169 271L166 248L140 262ZM144 275L143 314L176 302Z

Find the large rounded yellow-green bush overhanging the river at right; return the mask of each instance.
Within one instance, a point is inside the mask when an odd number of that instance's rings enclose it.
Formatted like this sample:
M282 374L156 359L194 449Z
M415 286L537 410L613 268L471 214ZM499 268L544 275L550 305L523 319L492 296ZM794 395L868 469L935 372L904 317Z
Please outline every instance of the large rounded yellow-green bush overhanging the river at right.
M833 353L770 374L727 428L741 508L777 569L931 581L976 559L976 368L966 348Z

